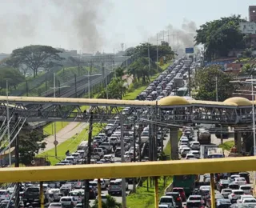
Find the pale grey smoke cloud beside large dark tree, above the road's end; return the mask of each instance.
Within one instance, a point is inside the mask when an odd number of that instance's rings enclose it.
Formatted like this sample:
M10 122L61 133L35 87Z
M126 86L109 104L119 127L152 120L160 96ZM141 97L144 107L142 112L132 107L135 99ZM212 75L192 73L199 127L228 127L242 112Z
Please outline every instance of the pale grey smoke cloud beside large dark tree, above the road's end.
M169 44L173 50L184 51L186 47L194 46L196 30L197 26L195 22L184 19L180 29L175 28L170 24L166 26L166 29L158 32L154 37L151 37L150 42L155 42L158 35L158 43L162 40L166 42L169 40Z

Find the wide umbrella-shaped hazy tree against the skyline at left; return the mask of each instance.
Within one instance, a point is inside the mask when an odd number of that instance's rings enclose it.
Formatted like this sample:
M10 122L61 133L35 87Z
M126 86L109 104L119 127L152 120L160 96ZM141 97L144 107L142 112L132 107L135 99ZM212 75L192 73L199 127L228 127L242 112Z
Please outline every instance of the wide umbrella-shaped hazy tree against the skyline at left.
M38 68L48 69L54 63L65 59L61 58L59 53L62 53L62 51L51 46L25 46L13 50L10 58L6 60L6 64L15 68L18 68L20 65L26 65L30 70L33 70L35 77L38 74Z

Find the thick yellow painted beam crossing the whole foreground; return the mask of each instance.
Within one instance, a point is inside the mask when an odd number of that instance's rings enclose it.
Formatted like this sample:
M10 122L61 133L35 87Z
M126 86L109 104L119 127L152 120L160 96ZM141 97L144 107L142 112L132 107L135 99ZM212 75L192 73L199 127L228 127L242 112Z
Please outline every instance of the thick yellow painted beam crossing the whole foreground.
M134 178L256 170L256 157L0 169L0 182Z

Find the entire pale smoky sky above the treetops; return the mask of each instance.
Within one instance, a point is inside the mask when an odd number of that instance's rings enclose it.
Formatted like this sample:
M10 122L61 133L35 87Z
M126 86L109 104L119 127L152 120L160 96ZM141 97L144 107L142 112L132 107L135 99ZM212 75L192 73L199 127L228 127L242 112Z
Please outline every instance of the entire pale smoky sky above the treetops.
M255 0L0 0L0 53L35 44L111 53L121 43L124 49L156 44L157 34L158 42L189 47L200 25L231 14L248 18L252 5Z

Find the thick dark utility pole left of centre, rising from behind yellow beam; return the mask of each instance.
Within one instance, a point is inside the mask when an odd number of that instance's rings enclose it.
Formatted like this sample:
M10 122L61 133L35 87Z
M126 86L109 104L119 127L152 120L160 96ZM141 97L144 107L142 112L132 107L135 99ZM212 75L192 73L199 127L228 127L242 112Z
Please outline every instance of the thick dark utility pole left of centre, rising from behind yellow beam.
M93 112L90 113L90 122L89 122L89 133L88 133L88 143L87 143L87 154L84 163L90 164L91 158L91 142L92 142L92 132L93 132ZM83 208L89 208L89 180L85 180L85 194L83 198ZM99 193L101 194L101 193Z

